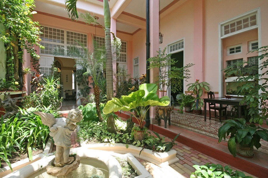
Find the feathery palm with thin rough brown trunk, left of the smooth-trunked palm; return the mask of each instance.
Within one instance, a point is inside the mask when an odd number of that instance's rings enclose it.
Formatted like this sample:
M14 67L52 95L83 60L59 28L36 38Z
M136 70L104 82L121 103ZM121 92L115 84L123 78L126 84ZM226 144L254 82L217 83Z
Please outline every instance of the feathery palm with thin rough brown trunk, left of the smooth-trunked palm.
M79 45L82 47L82 51L80 47L74 45L68 45L67 50L65 50L64 47L56 47L53 49L53 55L74 58L75 62L78 65L87 69L84 75L91 76L94 81L93 90L95 96L96 110L99 120L102 121L102 116L99 108L99 81L100 78L103 76L103 70L105 70L106 68L106 50L104 47L98 47L94 40L93 42L94 45L89 45L89 48L84 47L83 44L78 42Z

